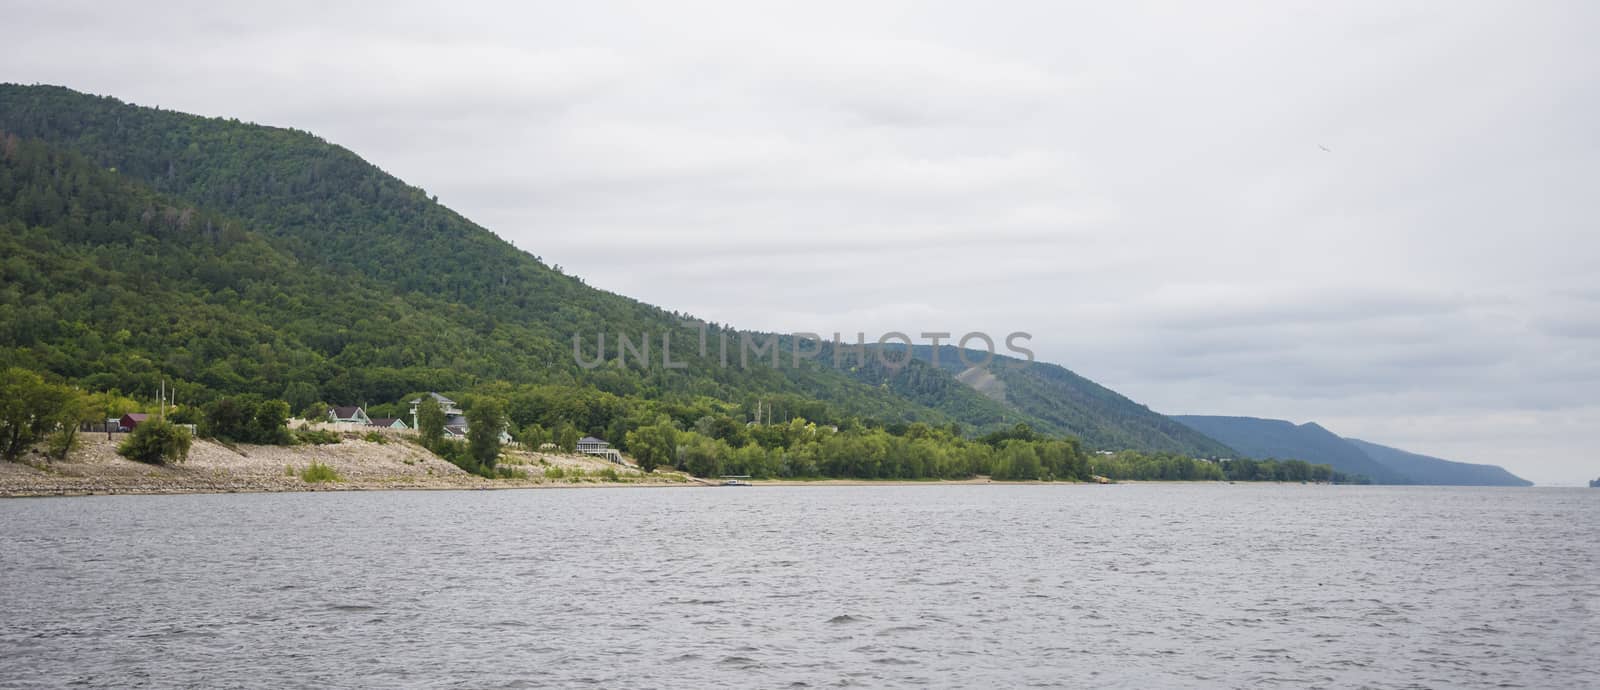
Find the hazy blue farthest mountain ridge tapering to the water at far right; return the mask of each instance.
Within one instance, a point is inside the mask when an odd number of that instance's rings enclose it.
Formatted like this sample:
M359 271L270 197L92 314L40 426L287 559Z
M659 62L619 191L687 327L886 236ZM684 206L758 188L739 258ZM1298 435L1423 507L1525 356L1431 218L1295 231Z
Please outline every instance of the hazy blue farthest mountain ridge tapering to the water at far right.
M1307 463L1325 463L1341 472L1365 474L1378 483L1533 485L1533 482L1517 477L1499 466L1456 463L1387 445L1344 439L1317 423L1294 424L1283 419L1210 415L1176 415L1173 419L1218 439L1251 458L1293 458Z

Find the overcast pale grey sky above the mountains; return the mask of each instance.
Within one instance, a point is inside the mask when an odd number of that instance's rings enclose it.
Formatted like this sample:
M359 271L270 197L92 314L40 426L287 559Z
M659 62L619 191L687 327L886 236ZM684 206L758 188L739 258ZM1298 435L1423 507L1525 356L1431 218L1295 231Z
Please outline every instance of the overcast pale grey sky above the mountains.
M0 82L309 130L667 309L1027 331L1157 411L1600 477L1597 3L0 18Z

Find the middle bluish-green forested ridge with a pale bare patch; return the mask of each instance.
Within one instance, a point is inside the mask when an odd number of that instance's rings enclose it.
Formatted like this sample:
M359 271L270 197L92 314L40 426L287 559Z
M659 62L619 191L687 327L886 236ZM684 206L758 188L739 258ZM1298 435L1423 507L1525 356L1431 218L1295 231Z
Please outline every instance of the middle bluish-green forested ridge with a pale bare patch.
M933 346L917 346L912 352L918 360L934 360ZM982 365L986 357L986 352L968 352L966 362ZM1050 429L1074 434L1090 448L1150 448L1198 458L1235 455L1227 445L1054 363L997 354L982 367L968 367L955 346L939 346L938 365L1005 402L1019 418L1040 419Z

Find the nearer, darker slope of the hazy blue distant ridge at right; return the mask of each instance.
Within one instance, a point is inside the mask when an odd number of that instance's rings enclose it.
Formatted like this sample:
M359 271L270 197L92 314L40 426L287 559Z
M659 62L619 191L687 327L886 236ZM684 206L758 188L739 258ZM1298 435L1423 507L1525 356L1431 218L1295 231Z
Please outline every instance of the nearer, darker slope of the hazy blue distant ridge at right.
M1189 427L1227 443L1250 458L1304 459L1328 464L1346 474L1362 474L1378 483L1411 483L1394 469L1374 461L1350 442L1315 423L1293 424L1253 416L1176 415Z

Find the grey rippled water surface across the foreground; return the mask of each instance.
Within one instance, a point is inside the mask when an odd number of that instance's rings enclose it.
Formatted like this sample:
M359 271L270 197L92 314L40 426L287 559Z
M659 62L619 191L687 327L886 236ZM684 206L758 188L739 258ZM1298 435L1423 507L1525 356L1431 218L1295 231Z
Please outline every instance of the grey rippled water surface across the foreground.
M0 687L1600 687L1600 490L0 501Z

